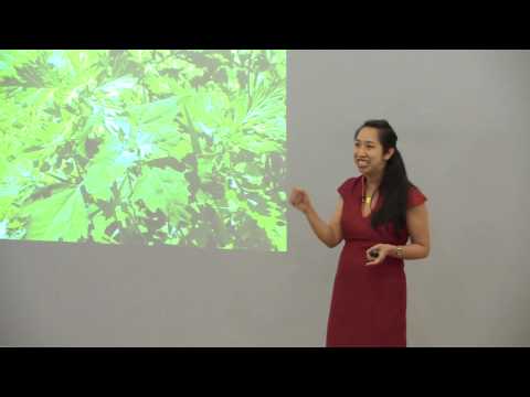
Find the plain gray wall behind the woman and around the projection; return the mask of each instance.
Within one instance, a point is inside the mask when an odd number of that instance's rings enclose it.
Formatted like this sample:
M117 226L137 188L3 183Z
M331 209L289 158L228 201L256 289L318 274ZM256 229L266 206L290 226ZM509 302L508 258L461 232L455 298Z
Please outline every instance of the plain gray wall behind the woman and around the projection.
M530 346L530 52L292 51L289 184L322 217L386 118L428 197L409 345ZM289 210L287 254L0 243L0 345L322 346L340 247Z

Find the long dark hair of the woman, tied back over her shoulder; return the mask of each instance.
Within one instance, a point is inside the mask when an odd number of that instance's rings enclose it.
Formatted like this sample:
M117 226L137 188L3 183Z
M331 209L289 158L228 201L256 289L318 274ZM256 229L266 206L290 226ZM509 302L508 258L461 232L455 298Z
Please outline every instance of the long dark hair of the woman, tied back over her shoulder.
M379 194L383 197L382 206L372 214L371 225L375 229L382 225L394 224L396 230L406 227L406 204L409 189L414 186L406 176L405 163L396 148L398 136L386 120L368 120L356 131L356 139L364 127L375 128L383 153L394 148L394 154L386 162L384 174L379 186Z

